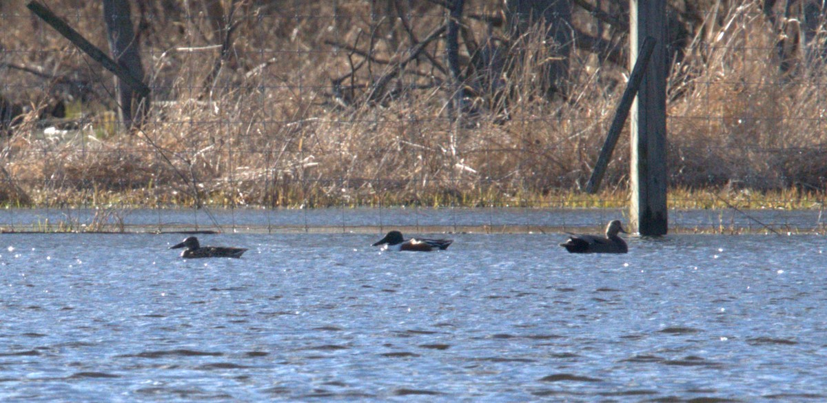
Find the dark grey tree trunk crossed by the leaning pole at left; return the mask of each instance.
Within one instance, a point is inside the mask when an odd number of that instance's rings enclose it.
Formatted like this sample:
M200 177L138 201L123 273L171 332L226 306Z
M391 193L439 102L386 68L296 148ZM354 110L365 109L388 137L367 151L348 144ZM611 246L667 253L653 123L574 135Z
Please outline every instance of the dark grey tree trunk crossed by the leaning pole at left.
M103 20L106 21L107 40L112 59L138 81L144 79L135 33L132 29L129 0L103 0ZM115 78L115 88L121 121L127 127L143 121L148 100L138 95L127 83Z

